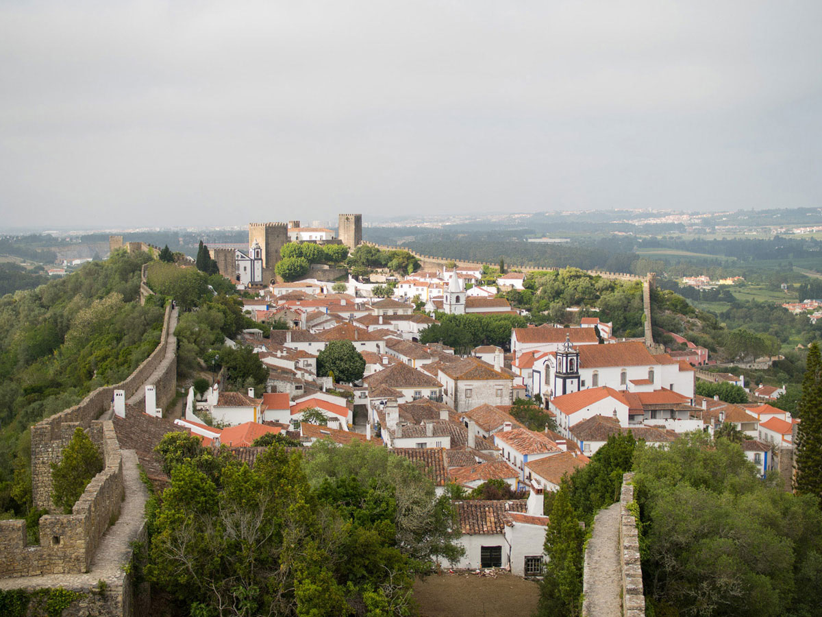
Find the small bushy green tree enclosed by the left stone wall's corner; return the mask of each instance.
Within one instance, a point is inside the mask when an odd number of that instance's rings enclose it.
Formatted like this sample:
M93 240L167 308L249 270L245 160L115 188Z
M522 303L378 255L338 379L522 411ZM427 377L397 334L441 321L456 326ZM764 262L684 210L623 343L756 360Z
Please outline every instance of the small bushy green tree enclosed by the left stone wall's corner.
M74 429L71 441L62 451L62 461L52 463L52 501L65 514L71 514L85 487L100 471L103 457L81 427Z

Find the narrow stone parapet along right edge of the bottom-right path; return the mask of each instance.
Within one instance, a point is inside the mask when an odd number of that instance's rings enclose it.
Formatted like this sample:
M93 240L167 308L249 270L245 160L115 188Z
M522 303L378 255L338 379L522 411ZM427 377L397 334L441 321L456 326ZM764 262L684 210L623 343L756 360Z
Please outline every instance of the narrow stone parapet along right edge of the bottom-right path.
M634 501L633 473L622 476L620 493L619 550L622 575L622 615L623 617L644 617L645 596L642 585L642 564L640 562L640 536L636 519L630 513L628 504Z

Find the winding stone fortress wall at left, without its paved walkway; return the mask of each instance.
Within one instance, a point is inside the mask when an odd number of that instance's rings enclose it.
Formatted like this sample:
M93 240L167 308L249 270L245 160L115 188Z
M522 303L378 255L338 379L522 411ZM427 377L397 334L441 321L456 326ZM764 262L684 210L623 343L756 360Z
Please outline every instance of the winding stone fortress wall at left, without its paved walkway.
M25 545L25 521L0 521L0 578L50 573L87 572L109 525L120 513L123 498L122 453L108 417L115 390L124 390L127 401L139 405L143 386L154 374L157 401L164 406L174 397L177 374L177 340L169 332L171 307L165 311L163 333L157 349L125 381L99 387L78 405L31 427L31 484L35 508L56 511L52 503L51 464L62 460L62 451L79 426L104 456L101 471L77 501L71 514L40 518L39 546Z

